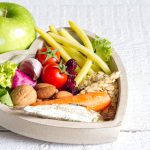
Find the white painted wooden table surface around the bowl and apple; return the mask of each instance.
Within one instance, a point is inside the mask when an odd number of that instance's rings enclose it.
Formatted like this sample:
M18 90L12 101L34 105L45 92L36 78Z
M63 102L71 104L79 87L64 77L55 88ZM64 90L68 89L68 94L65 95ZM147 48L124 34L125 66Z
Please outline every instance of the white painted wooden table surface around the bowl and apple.
M5 0L6 1L6 0ZM150 1L149 0L9 0L31 11L37 25L82 28L113 42L128 76L129 98L118 140L101 145L65 145L33 140L0 127L0 149L150 150Z

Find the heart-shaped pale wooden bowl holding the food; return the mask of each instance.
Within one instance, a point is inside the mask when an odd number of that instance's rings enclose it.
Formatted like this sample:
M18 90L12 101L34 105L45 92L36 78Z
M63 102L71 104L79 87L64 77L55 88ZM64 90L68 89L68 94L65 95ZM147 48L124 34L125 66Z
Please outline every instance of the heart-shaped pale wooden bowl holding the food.
M66 29L75 37L70 28ZM91 39L96 36L88 31L86 33ZM18 55L28 54L30 57L34 57L36 50L42 44L43 40L39 37L28 50L12 51L9 52L9 55L8 53L0 54L0 63L4 61L3 58L10 60ZM127 105L127 77L124 66L115 50L113 50L111 70L120 71L118 107L114 120L84 123L43 119L24 115L20 111L0 104L0 125L17 134L48 142L68 144L112 142L117 139Z

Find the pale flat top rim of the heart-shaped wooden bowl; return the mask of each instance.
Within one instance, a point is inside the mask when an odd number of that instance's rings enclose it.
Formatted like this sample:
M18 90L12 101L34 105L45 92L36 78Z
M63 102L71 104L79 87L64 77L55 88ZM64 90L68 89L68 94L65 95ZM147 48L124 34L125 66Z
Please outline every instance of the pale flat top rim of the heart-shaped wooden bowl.
M60 28L58 28L60 29ZM66 27L66 29L74 36L79 42L79 38L74 34L74 32ZM89 36L90 39L94 38L96 35L92 34L88 31L86 31L87 35ZM22 53L28 53L28 57L34 57L36 50L43 45L43 40L39 37L37 38L29 50L24 50L24 51L14 51L14 52L9 52L10 56L15 56L15 55L22 55ZM6 54L2 54L5 57ZM11 57L9 57L10 59ZM0 61L2 63L2 61ZM115 119L112 121L104 121L104 122L98 122L98 123L84 123L84 122L70 122L70 121L60 121L60 120L53 120L53 119L42 119L42 118L37 118L37 117L32 117L32 116L27 116L23 114L17 114L18 117L23 118L24 120L28 120L30 122L38 123L38 124L44 124L44 125L51 125L51 126L59 126L59 127L68 127L68 128L108 128L108 127L114 127L114 126L120 126L120 123L122 122L125 108L126 108L126 101L127 101L127 79L126 79L126 73L124 70L124 67L121 63L120 58L114 51L113 53L113 58L111 61L110 68L112 71L120 71L120 78L118 80L119 84L119 97L118 97L118 107L117 107L117 113L115 116ZM8 111L10 113L14 113L12 110L8 110L8 108L4 109L5 111ZM15 113L16 114L16 113Z

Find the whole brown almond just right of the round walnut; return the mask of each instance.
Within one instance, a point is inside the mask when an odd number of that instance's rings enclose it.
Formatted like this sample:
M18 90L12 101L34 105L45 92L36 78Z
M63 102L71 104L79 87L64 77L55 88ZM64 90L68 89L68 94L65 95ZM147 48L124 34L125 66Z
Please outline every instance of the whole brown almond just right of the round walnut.
M38 99L50 98L56 92L57 92L57 89L55 86L42 87L37 90L37 98Z

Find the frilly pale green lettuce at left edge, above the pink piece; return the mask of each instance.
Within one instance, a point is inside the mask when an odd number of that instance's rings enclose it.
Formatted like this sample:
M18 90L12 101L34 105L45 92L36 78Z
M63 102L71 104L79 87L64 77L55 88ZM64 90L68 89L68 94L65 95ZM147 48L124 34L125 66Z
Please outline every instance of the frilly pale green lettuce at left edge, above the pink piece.
M12 86L12 77L15 75L17 64L6 61L0 65L0 86L3 88Z

